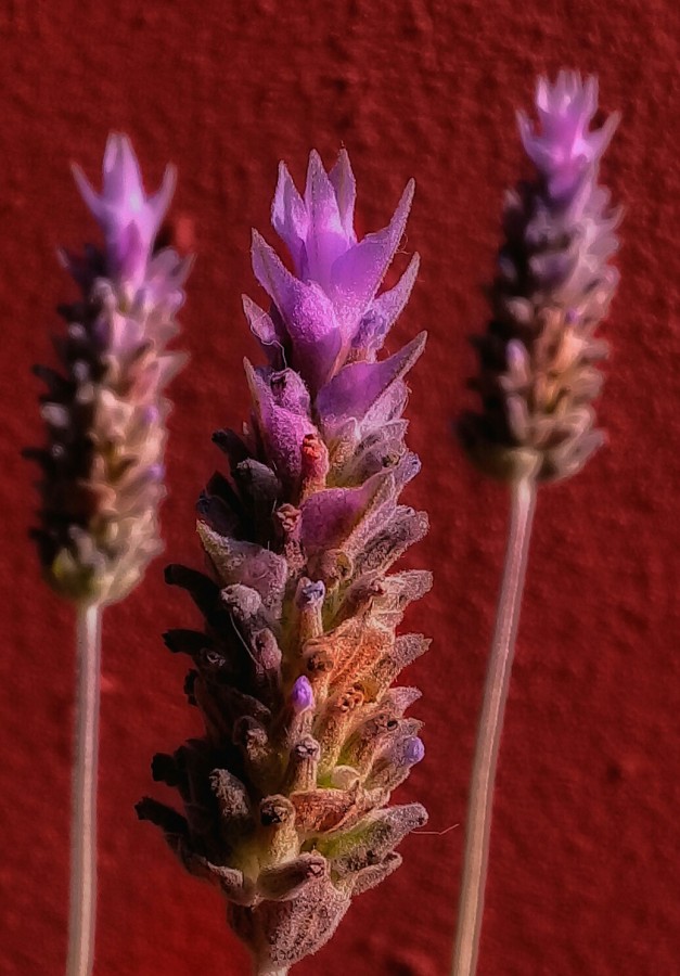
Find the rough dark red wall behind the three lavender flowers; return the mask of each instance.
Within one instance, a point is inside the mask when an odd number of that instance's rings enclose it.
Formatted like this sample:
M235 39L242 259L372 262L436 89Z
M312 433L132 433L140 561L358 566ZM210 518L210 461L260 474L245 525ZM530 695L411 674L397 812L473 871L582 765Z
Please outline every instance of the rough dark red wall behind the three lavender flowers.
M174 213L198 255L182 313L190 367L176 381L163 511L167 556L195 562L193 502L219 458L210 432L246 410L256 356L240 295L258 296L249 228L269 234L277 163L304 175L346 145L362 230L418 183L406 252L422 273L398 342L429 330L412 375L410 500L432 516L412 565L436 587L410 616L434 635L425 761L402 800L429 809L405 866L361 896L299 976L440 976L453 932L474 732L503 550L504 492L450 436L486 309L503 187L522 153L514 108L537 73L596 70L623 121L604 164L626 206L621 285L601 418L610 445L546 489L502 743L479 976L680 973L680 518L677 410L678 37L676 0L8 0L0 11L0 309L3 513L0 586L0 973L60 974L65 958L72 619L43 588L25 535L41 438L29 367L49 356L72 293L57 243L93 235L68 172L98 178L110 129L134 141L151 187L180 172ZM184 229L185 229L184 222ZM406 262L406 257L401 258ZM261 295L260 295L261 297ZM185 875L132 811L149 760L196 731L182 663L159 633L189 604L163 560L105 616L99 976L246 972L218 897ZM438 835L438 832L440 834Z

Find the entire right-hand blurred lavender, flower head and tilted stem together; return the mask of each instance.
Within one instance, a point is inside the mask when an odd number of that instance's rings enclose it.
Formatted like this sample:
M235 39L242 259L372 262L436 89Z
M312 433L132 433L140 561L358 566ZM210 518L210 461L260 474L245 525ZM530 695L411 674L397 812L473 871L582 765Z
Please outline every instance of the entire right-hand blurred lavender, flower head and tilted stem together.
M519 113L531 182L508 194L505 243L490 292L491 321L475 341L478 412L461 421L462 441L487 474L509 483L510 539L472 776L465 860L453 960L454 976L476 969L487 873L493 780L531 521L539 484L578 472L600 447L592 407L606 345L595 336L618 274L620 214L598 185L600 158L618 118L590 129L598 108L595 78L561 72L539 79L540 131Z

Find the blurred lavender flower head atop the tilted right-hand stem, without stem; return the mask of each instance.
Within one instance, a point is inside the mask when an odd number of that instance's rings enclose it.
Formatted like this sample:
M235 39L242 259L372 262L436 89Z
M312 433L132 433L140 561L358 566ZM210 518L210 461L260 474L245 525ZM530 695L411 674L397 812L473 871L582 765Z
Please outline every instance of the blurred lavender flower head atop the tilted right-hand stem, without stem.
M493 318L475 338L483 410L460 428L473 460L501 478L567 477L604 439L591 402L606 346L594 331L618 281L608 259L620 214L598 185L618 116L591 130L596 95L594 78L561 72L554 85L538 82L540 132L518 116L537 176L506 197Z

